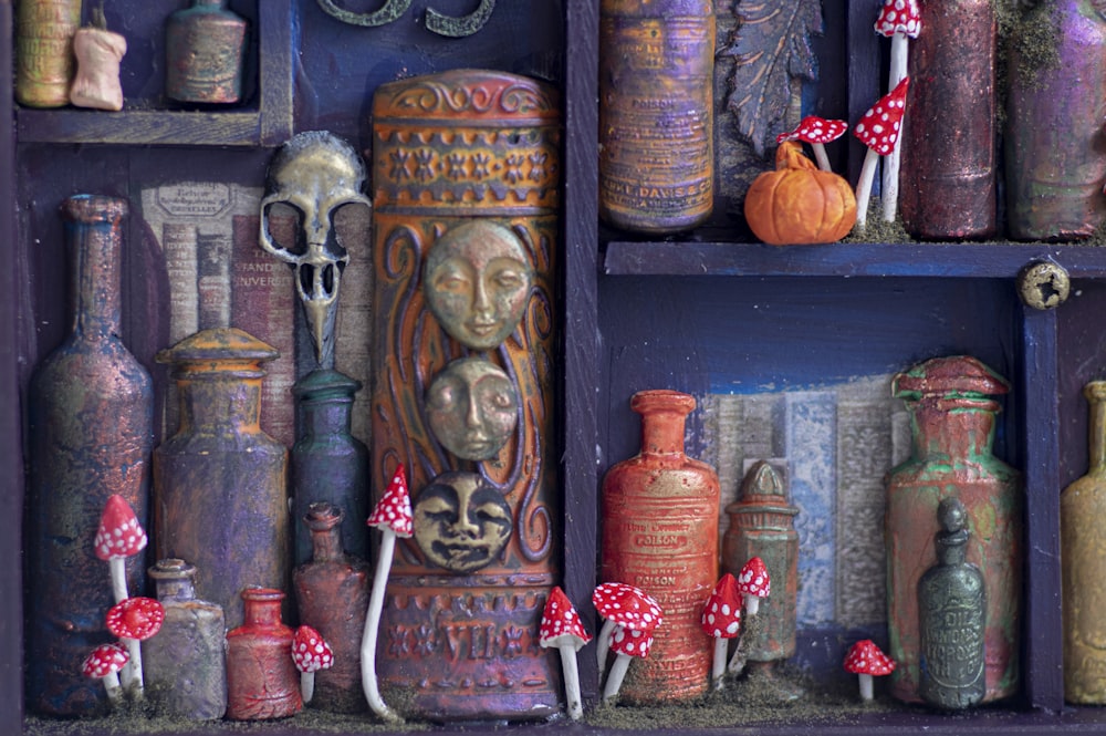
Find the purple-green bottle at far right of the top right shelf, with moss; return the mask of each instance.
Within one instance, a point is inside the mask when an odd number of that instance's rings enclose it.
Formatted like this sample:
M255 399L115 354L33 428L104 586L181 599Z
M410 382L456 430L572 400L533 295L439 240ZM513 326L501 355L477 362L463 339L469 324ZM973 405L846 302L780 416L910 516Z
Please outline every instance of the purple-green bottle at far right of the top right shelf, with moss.
M1106 0L1042 0L1009 62L1006 219L1015 240L1079 240L1106 219Z

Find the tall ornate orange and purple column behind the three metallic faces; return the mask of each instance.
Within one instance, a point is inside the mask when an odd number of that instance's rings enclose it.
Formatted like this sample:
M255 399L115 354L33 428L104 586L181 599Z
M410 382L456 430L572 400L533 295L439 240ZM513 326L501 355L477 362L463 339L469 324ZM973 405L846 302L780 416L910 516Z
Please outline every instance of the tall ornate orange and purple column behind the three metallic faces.
M373 491L379 497L403 463L417 507L432 479L463 471L482 478L481 493L493 489L493 506L509 519L500 552L474 569L436 564L415 539L397 545L377 652L380 688L406 691L409 709L434 721L541 719L560 709L560 663L538 645L560 538L560 116L550 85L480 70L385 84L373 101ZM473 229L487 241L460 237ZM426 263L440 241L456 247L445 265L463 277L449 283L470 298L445 300L448 325L426 297ZM502 259L489 260L487 249L502 249ZM502 288L489 277L504 265L511 289L532 273L524 299L504 299L487 314L473 308L468 329L467 305L482 303L483 288ZM501 342L487 344L504 325ZM473 353L511 377L524 417L480 460L436 440L425 404L434 376ZM439 489L442 502L459 504L470 488Z

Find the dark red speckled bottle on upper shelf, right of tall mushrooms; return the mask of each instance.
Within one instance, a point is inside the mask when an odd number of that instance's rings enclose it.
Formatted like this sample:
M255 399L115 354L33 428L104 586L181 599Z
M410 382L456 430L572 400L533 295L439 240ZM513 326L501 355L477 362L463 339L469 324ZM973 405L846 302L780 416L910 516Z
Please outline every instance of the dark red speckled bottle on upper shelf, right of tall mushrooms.
M921 3L902 126L902 226L921 239L993 237L998 22L993 0Z

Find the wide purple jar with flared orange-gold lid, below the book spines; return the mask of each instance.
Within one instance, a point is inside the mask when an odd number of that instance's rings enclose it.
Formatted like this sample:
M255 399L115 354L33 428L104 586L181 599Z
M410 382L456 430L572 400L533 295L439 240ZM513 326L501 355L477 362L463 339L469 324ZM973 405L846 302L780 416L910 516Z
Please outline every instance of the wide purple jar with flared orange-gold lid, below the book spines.
M278 355L234 328L157 354L180 395L180 426L154 450L157 554L204 570L197 590L231 628L242 621L246 587L291 581L288 449L261 429L261 366Z

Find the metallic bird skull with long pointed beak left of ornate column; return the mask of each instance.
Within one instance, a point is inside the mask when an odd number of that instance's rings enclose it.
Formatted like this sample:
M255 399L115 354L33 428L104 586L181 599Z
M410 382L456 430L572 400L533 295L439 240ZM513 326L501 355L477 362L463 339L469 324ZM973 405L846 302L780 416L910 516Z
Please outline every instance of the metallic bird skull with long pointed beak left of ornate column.
M338 242L335 212L344 205L372 207L362 194L365 165L353 147L325 131L301 133L281 146L269 166L269 183L261 200L260 245L295 269L295 290L323 367L334 363L334 322L342 271L349 253ZM281 242L274 220L292 212L294 232ZM288 242L288 245L282 245Z

